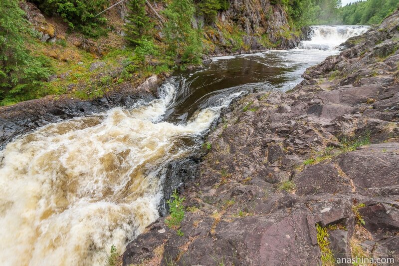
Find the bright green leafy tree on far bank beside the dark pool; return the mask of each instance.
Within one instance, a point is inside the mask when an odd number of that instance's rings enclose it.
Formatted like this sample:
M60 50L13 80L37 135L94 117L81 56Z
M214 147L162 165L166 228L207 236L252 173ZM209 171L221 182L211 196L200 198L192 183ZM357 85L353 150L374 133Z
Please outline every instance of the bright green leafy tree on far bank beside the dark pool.
M163 11L168 18L163 31L169 56L181 58L182 63L201 62L201 32L191 24L194 13L193 0L174 0Z

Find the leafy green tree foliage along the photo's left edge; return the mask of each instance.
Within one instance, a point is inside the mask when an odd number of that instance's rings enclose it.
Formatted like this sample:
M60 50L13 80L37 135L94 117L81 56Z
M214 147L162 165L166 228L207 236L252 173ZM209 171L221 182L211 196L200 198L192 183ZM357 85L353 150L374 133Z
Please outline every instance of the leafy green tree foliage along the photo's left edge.
M48 60L25 47L29 30L24 15L17 0L0 1L0 105L38 97L51 74Z

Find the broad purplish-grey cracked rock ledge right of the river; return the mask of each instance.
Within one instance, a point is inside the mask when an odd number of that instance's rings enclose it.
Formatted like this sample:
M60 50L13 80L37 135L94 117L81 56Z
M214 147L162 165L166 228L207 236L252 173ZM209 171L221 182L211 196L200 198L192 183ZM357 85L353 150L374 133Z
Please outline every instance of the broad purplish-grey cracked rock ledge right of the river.
M397 265L398 11L346 44L292 91L233 104L181 189L184 235L160 218L123 264Z

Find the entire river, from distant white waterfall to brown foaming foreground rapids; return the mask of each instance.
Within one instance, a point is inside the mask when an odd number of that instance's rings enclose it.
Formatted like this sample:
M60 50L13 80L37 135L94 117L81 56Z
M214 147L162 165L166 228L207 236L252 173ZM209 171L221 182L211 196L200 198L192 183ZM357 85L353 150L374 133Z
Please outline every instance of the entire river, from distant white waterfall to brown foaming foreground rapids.
M297 49L215 57L159 99L48 124L0 151L0 264L103 265L158 217L165 168L240 95L286 91L364 26L313 26Z

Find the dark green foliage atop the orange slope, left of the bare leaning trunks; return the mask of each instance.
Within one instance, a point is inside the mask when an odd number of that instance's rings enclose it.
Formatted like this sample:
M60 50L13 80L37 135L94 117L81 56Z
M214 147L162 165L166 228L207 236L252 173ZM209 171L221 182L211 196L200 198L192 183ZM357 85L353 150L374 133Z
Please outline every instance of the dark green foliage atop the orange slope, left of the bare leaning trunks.
M77 28L87 36L106 34L101 25L104 17L94 17L109 5L109 0L29 0L47 15L58 14L72 29Z

